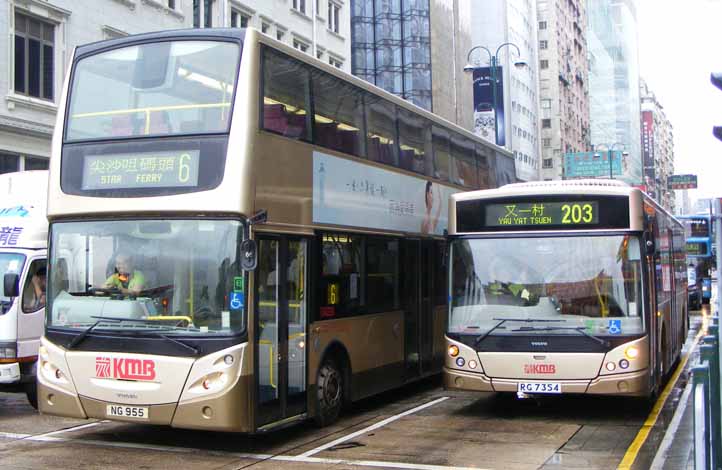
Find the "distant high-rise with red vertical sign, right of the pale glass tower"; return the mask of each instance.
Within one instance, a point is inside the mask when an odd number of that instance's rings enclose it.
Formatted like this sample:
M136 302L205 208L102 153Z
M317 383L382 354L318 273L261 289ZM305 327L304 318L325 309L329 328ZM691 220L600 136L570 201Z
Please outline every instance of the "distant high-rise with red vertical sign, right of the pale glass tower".
M664 108L644 80L639 94L642 109L642 165L647 193L673 210L676 200L668 179L674 174L674 133Z

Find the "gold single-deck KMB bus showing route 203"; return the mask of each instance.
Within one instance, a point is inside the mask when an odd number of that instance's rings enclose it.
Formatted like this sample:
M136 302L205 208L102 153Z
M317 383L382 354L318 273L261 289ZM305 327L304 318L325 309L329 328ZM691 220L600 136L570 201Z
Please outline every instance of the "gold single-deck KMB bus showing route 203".
M451 196L449 389L654 397L687 337L684 229L621 182Z

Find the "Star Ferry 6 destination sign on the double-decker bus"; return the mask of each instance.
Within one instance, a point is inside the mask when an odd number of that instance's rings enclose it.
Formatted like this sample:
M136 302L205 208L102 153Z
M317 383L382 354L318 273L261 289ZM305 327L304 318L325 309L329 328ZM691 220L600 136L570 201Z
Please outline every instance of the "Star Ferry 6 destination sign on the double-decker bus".
M198 150L86 155L83 190L198 185Z

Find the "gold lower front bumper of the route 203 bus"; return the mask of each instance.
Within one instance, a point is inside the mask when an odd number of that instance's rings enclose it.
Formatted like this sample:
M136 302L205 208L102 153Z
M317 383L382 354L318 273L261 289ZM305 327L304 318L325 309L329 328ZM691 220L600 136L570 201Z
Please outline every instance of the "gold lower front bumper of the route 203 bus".
M626 374L605 375L592 380L550 381L559 382L562 386L562 393L626 396L647 396L649 394L648 369ZM518 386L519 380L492 379L485 374L463 372L444 367L444 387L447 390L516 393Z

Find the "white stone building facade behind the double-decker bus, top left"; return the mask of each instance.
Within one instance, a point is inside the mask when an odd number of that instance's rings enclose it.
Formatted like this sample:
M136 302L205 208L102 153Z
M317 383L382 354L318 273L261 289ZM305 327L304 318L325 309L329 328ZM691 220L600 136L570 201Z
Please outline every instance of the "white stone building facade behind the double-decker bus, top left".
M0 5L0 173L48 166L75 46L164 29L253 26L347 72L349 0L6 0Z

